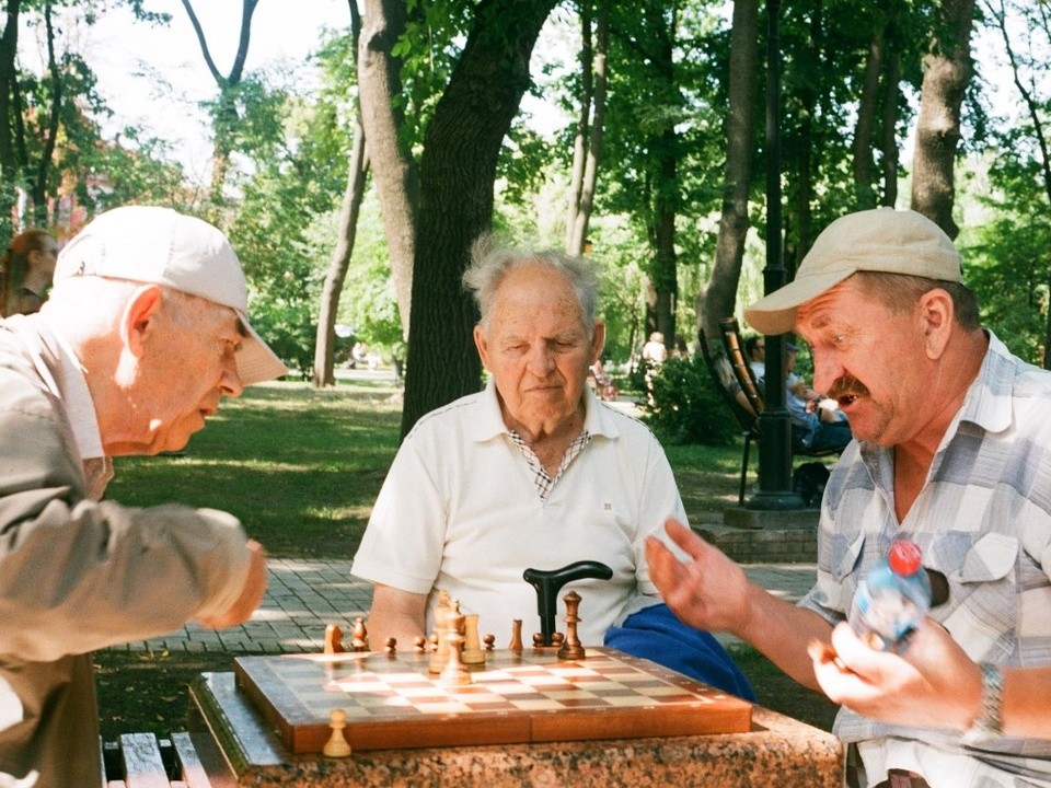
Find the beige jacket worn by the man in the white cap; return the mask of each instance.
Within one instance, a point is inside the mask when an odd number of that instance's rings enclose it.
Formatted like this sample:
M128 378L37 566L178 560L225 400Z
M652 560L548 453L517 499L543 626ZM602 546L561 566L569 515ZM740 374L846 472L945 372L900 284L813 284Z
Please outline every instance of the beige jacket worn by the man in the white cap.
M0 773L36 788L101 784L88 652L228 610L249 566L229 514L92 499L59 348L0 322Z

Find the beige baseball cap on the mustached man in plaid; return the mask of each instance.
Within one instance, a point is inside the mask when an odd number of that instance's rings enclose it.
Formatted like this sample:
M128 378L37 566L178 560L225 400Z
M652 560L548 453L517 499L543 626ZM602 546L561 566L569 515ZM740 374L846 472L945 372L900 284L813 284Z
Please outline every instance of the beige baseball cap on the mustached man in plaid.
M796 308L857 271L962 281L960 255L942 228L922 213L893 208L847 213L829 224L802 258L796 278L744 309L763 334L785 334Z

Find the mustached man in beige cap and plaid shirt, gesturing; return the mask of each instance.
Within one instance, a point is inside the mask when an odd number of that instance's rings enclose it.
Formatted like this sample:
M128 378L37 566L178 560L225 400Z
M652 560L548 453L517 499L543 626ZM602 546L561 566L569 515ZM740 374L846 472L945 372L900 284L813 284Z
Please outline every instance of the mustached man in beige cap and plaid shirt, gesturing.
M954 698L971 730L844 708L835 732L848 744L848 785L1051 785L1051 743L998 730L1001 668L1051 663L1051 374L979 326L961 282L942 230L882 208L830 224L795 280L746 310L759 331L795 329L810 343L815 387L839 402L857 439L825 488L817 584L797 606L673 521L668 532L688 560L647 545L679 616L737 635L818 688L808 644L829 640L891 540L920 544L948 582L934 617L982 663Z

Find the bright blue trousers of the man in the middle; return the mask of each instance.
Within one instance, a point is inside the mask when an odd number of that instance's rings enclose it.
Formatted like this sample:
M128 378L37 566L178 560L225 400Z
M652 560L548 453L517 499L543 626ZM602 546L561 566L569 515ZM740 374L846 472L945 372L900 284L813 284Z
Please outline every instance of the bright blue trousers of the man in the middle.
M642 657L746 700L755 693L740 668L709 633L675 617L666 604L630 615L623 626L610 627L605 645Z

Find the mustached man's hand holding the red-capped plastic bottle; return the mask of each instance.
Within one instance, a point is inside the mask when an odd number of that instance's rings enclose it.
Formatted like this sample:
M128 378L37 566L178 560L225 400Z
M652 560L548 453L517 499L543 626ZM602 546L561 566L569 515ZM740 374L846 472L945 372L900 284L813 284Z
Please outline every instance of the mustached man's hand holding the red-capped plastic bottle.
M978 714L981 670L933 618L902 656L866 646L847 624L832 644L808 647L813 673L833 702L886 722L966 730Z

